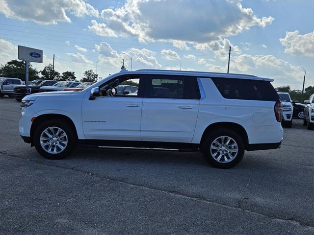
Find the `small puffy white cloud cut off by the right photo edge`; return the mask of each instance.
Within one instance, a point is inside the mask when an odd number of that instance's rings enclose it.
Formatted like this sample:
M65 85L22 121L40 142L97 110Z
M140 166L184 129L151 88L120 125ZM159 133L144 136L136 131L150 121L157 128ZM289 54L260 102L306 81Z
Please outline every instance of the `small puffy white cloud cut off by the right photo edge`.
M285 48L285 53L298 56L314 56L314 31L307 34L299 34L298 30L286 32L285 38L279 39Z

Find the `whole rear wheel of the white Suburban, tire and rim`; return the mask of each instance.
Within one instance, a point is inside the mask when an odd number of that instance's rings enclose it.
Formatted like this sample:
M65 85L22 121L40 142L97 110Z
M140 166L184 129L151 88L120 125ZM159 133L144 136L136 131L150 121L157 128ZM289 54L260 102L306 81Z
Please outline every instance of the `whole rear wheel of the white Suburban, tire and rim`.
M209 133L201 148L208 163L217 168L231 168L238 164L244 155L244 142L241 136L227 129Z

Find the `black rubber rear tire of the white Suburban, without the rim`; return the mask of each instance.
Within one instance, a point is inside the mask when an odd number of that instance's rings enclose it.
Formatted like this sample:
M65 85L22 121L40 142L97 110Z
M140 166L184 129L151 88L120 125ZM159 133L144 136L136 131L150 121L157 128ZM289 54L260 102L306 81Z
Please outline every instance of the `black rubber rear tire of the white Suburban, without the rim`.
M211 155L210 146L211 146L212 142L216 138L222 137L222 136L231 137L236 142L237 147L238 147L237 148L238 152L237 152L235 158L231 162L229 162L229 163L218 162ZM207 160L207 162L211 166L217 167L217 168L228 169L228 168L234 167L236 164L238 164L242 160L243 155L244 155L245 147L244 147L244 141L243 141L242 137L239 134L237 134L233 130L223 129L222 128L222 129L219 129L219 130L212 131L211 133L208 134L208 136L201 143L201 150L203 152L203 155L204 155L205 159ZM217 151L219 151L219 150L217 150Z

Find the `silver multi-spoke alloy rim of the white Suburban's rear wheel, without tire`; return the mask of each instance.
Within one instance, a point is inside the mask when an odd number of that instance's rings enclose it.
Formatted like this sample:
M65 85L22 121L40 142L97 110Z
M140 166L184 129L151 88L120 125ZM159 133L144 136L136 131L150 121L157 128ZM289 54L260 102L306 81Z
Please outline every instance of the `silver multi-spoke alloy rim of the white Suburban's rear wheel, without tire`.
M237 143L229 136L220 136L210 145L210 154L218 163L230 163L235 159L237 152Z

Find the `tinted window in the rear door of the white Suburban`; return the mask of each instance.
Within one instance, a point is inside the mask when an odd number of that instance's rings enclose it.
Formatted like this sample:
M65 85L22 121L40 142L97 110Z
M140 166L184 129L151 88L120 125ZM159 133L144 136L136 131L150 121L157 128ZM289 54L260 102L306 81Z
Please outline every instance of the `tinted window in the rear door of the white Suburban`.
M187 76L149 75L145 79L145 97L199 99L196 79Z

